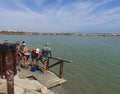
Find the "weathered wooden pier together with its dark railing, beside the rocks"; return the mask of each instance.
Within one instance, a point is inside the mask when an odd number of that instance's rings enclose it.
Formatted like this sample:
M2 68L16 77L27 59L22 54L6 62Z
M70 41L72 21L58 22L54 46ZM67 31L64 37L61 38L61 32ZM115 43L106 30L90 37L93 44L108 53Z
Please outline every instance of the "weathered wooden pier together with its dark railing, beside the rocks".
M50 59L57 60L57 62L51 64ZM35 72L30 71L31 70L30 68L29 69L22 68L21 71L17 72L17 75L20 78L33 78L35 80L38 80L41 84L43 84L47 88L52 88L66 82L66 80L63 78L64 62L71 63L72 61L61 58L49 57L47 71L45 73L42 72L42 67L39 67L39 70L36 70ZM59 74L55 74L54 72L51 72L49 70L50 68L56 65L59 65Z

